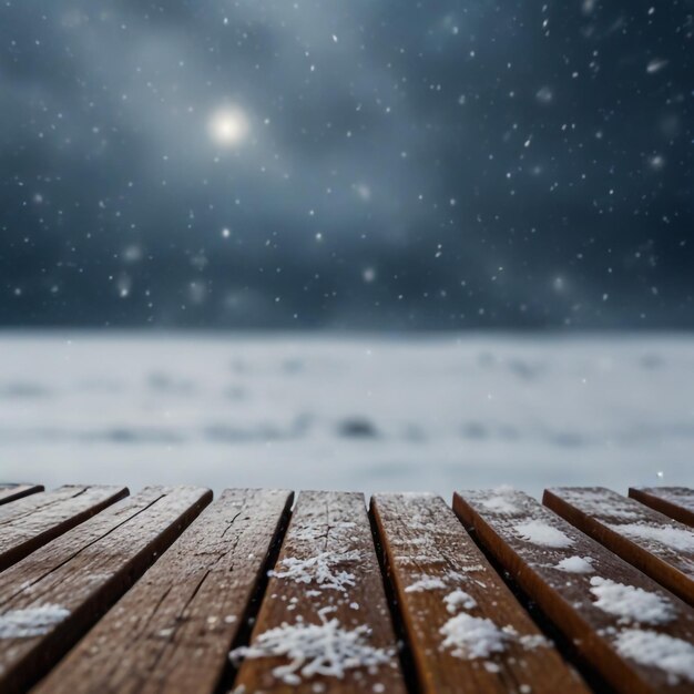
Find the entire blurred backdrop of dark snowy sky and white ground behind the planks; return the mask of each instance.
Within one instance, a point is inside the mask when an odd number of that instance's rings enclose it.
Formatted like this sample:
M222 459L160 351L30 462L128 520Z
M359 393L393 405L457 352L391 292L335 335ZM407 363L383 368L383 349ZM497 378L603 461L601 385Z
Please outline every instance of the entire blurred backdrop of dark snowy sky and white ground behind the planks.
M11 0L0 472L692 483L694 1Z

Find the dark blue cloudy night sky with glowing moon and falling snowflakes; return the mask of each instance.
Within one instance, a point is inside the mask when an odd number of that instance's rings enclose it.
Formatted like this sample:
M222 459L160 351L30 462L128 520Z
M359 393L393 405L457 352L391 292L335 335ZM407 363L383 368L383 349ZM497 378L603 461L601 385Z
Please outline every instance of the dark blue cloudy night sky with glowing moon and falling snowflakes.
M0 325L694 327L694 0L2 0Z

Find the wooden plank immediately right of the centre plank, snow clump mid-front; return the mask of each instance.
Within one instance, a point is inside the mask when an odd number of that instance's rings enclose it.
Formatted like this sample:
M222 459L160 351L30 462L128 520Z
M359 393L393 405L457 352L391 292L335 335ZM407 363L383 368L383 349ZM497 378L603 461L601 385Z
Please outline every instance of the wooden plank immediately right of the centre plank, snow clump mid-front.
M371 512L421 692L589 692L440 497L376 494Z

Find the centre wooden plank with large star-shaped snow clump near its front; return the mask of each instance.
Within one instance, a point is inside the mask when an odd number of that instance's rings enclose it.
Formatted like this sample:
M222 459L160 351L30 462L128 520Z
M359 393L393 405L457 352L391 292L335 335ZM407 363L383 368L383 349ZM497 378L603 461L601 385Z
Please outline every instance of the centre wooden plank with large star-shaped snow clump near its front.
M388 603L357 493L302 492L235 692L405 694Z

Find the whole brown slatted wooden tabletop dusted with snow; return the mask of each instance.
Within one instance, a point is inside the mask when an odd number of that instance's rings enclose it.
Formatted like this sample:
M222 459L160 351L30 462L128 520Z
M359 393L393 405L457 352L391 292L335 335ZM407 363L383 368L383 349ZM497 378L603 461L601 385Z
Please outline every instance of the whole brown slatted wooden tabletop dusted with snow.
M0 692L691 694L694 491L630 491L0 484Z

